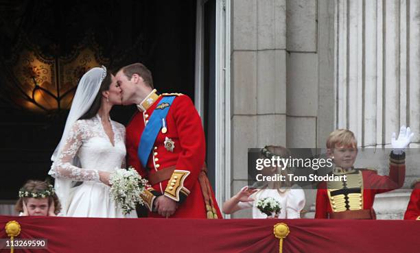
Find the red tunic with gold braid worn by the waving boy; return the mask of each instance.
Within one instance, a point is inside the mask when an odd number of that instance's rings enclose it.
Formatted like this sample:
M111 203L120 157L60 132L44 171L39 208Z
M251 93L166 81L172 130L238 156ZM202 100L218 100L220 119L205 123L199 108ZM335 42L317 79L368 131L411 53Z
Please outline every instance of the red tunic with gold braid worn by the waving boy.
M342 173L347 175L347 189L331 187L330 183L321 182L316 193L315 218L327 219L334 213L349 210L373 211L373 201L377 193L393 191L403 186L406 175L404 159L405 154L397 156L391 153L389 176L378 176L376 171L369 169L354 169L353 172Z

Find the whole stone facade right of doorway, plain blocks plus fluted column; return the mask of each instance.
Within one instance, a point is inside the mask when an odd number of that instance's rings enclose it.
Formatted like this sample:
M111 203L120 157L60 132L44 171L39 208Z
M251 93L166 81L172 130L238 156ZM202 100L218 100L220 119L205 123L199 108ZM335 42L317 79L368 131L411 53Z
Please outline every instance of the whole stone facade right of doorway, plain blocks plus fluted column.
M355 132L360 147L387 146L399 125L420 133L420 0L232 0L231 7L232 195L246 185L248 147L325 147L336 128ZM381 209L379 217L401 217L409 193L382 195L376 207L388 203L397 213ZM312 204L307 191L305 209Z

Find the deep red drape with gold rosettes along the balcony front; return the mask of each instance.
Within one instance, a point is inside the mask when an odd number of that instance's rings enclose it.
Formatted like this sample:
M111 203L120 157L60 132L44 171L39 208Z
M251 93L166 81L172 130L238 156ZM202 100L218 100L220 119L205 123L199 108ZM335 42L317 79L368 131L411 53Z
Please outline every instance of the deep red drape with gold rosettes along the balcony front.
M18 238L48 239L47 250L15 252L419 252L420 221L326 219L100 219L0 216L21 224ZM10 252L10 250L0 250Z

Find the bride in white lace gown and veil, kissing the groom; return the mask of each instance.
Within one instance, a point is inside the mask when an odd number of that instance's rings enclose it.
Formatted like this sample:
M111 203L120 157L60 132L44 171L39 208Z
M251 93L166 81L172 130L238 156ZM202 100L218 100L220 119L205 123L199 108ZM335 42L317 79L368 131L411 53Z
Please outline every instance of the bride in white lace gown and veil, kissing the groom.
M109 176L125 167L126 129L112 121L110 109L121 104L121 88L105 67L95 67L80 79L65 130L51 160L49 175L62 213L69 217L124 216L109 193Z

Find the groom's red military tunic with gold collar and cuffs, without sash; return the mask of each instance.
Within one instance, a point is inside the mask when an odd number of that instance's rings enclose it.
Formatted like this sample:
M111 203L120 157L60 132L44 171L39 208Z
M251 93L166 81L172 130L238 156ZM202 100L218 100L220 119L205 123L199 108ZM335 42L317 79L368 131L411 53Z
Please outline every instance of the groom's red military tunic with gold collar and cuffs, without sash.
M141 165L137 149L148 118L151 117L156 106L159 106L163 95L156 95L156 90L154 90L138 106L143 112L137 112L126 128L128 165L135 167L145 178L156 171L175 167L170 180L163 180L152 185L147 194L142 196L150 210L149 217L161 217L158 213L152 212L153 201L159 195L166 195L179 203L176 212L171 217L205 219L208 213L198 182L198 176L205 163L206 148L201 119L189 97L180 94L172 95L176 95L176 98L165 119L167 131L159 131L148 158L147 168ZM215 206L213 214L222 217L213 191L211 191L211 198Z

